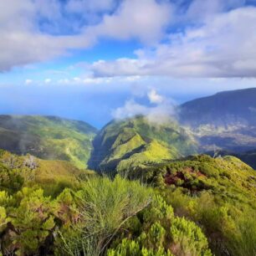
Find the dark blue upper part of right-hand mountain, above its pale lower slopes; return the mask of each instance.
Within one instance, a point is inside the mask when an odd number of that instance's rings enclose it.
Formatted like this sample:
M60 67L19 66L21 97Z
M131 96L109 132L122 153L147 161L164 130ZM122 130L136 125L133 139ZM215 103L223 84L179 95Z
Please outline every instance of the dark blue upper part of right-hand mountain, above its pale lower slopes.
M256 125L256 88L219 92L179 107L184 125Z

